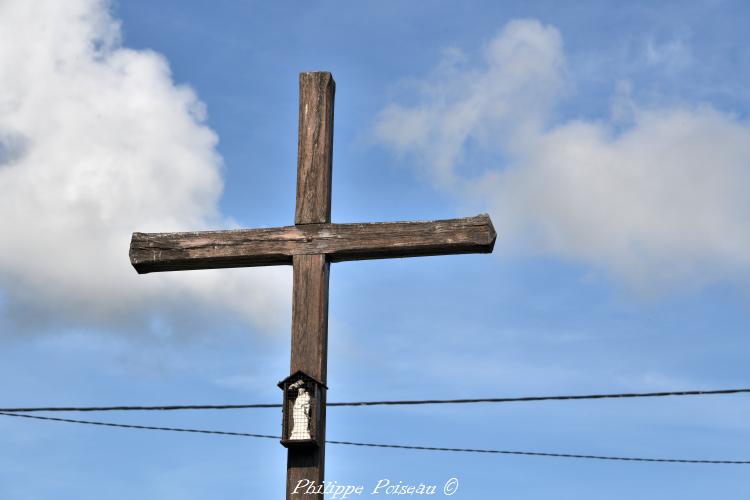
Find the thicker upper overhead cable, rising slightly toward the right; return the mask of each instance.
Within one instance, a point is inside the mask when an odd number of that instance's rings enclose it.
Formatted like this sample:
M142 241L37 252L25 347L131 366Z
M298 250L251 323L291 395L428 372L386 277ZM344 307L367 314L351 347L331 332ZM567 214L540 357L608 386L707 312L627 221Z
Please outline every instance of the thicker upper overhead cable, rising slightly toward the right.
M331 406L397 406L434 405L466 403L520 403L533 401L570 401L581 399L625 399L658 398L667 396L710 396L719 394L750 393L750 389L717 389L709 391L671 392L630 392L621 394L588 394L575 396L525 396L517 398L476 398L476 399L415 399L401 401L355 401L347 403L327 403ZM172 410L244 410L257 408L281 408L278 403L258 403L245 405L153 405L153 406L48 406L37 408L0 408L6 413L33 413L42 411L172 411Z

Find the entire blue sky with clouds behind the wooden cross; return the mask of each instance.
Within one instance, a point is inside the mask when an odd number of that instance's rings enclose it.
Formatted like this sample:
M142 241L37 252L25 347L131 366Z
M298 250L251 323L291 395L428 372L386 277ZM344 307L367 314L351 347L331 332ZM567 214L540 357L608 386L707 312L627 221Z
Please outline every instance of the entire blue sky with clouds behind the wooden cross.
M0 3L0 406L274 402L291 270L138 276L133 231L293 221L298 74L332 218L488 212L492 255L336 264L329 400L747 386L742 2ZM745 396L332 408L328 437L750 459ZM276 434L275 410L106 414ZM0 498L278 498L273 440L0 419ZM455 497L702 499L743 466L330 445Z

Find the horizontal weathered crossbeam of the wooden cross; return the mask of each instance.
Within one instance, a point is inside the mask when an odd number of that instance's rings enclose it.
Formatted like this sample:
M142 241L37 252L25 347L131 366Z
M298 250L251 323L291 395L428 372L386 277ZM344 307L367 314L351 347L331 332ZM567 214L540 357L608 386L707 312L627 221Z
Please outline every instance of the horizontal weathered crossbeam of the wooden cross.
M291 264L295 255L328 262L489 253L490 217L370 224L306 224L270 229L133 233L130 261L139 273Z

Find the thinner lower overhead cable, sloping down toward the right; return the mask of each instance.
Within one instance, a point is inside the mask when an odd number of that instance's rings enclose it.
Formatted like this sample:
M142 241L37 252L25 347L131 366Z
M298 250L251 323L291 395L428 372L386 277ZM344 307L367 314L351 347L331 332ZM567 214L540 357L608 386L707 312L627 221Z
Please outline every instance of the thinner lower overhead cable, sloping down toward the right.
M38 415L23 415L0 412L0 415L8 417L20 417L30 418L36 420L49 420L54 422L66 422L72 424L86 424L86 425L99 425L105 427L120 427L125 429L140 429L140 430L151 430L151 431L169 431L169 432L190 432L198 434L218 434L222 436L238 436L238 437L252 437L252 438L264 438L264 439L280 439L279 436L271 436L268 434L250 434L247 432L227 432L227 431L213 431L205 429L186 429L181 427L153 427L146 425L133 425L133 424L116 424L112 422L98 422L91 420L74 420L69 418L56 418L56 417L41 417ZM395 448L401 450L421 450L421 451L448 451L448 452L459 452L459 453L485 453L495 455L523 455L532 457L552 457L552 458L577 458L586 460L610 460L610 461L622 461L622 462L660 462L660 463L680 463L680 464L715 464L715 465L750 465L750 460L694 460L694 459L679 459L679 458L643 458L643 457L616 457L616 456L605 456L605 455L578 455L573 453L547 453L539 451L516 451L516 450L493 450L493 449L480 449L480 448L444 448L437 446L412 446L402 444L379 444L379 443L359 443L355 441L335 441L326 440L328 444L339 444L348 446L361 446L370 448Z

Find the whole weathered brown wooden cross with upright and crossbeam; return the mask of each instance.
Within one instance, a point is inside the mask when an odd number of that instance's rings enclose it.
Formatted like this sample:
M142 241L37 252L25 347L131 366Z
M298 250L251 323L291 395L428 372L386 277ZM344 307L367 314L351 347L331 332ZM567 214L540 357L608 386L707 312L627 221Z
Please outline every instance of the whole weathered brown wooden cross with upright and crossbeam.
M191 233L133 233L130 262L138 273L291 264L294 268L290 373L326 383L328 271L331 262L490 253L495 230L486 214L429 222L331 223L333 101L330 73L300 74L297 208L294 226ZM298 481L323 484L325 389L321 445L289 448L287 493ZM305 495L322 500L323 495Z

